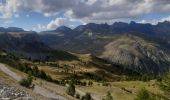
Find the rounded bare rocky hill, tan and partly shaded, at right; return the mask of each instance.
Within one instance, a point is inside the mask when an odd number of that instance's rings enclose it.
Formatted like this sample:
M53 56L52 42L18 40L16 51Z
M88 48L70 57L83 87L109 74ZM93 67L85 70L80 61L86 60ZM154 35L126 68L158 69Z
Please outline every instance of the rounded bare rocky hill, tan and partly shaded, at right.
M161 74L170 65L168 53L159 45L132 35L123 35L107 44L101 57L148 74Z

